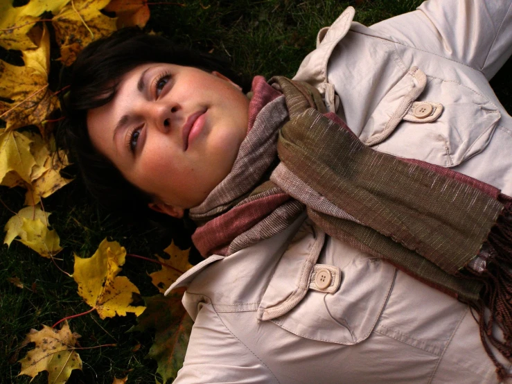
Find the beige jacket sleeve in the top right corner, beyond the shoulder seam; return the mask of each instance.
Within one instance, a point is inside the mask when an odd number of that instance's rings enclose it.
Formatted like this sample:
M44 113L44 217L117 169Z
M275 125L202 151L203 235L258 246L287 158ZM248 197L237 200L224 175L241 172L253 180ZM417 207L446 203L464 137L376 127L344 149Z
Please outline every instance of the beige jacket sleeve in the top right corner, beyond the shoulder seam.
M473 67L490 80L512 53L512 0L430 0L370 28Z

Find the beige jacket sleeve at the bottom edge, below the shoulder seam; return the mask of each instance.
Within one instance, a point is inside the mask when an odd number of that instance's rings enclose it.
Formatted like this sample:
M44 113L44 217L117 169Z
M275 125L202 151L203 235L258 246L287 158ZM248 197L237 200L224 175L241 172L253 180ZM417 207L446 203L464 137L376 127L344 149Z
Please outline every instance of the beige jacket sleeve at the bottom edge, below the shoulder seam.
M265 363L229 331L213 306L201 305L183 368L173 383L279 383Z

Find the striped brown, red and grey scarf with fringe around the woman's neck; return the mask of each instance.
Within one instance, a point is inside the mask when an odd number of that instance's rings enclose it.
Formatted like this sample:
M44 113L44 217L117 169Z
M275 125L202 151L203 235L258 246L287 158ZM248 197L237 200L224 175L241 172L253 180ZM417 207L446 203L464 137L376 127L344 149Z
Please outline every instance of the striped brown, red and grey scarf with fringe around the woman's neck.
M484 347L506 377L488 344L511 360L512 199L448 168L364 146L306 83L276 77L270 85L254 79L233 169L189 212L197 249L232 254L306 210L330 236L476 308ZM492 333L496 322L504 341Z

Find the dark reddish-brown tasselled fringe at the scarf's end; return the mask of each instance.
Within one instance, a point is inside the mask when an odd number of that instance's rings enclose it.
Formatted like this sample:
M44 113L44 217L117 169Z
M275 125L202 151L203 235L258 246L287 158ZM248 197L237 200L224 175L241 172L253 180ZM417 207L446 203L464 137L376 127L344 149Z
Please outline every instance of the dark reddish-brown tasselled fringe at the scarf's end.
M479 314L479 329L482 344L496 366L501 381L512 377L491 351L492 344L500 354L512 362L512 199L506 195L498 198L504 209L491 229L479 256L486 260L483 272L470 272L484 283L482 299L470 306ZM496 324L503 333L503 340L493 335Z

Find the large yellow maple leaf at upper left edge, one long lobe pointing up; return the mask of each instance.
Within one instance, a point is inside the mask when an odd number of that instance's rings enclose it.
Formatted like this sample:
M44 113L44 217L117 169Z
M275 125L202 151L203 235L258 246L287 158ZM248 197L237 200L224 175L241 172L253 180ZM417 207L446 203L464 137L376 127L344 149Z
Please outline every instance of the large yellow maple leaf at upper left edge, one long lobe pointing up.
M23 51L25 65L17 67L0 60L0 119L6 130L36 125L46 136L43 121L59 106L58 98L48 89L50 69L50 35L46 26L40 29L38 48Z

